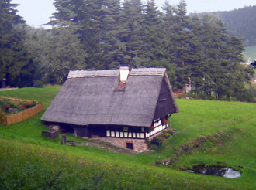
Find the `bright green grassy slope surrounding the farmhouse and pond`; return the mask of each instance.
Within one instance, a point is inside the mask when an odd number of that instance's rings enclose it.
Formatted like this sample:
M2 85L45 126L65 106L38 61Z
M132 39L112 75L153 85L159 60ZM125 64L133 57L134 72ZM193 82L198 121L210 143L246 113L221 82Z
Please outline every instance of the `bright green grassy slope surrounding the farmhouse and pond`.
M29 87L0 96L35 99L44 103L45 110L58 89ZM62 146L61 137L42 137L43 113L0 126L0 189L254 189L256 104L178 100L178 106L181 112L172 115L175 136L159 150L135 156ZM88 141L71 135L67 139ZM193 148L200 139L204 142ZM171 160L171 165L154 165L164 160ZM179 171L218 161L239 169L242 176L228 179Z

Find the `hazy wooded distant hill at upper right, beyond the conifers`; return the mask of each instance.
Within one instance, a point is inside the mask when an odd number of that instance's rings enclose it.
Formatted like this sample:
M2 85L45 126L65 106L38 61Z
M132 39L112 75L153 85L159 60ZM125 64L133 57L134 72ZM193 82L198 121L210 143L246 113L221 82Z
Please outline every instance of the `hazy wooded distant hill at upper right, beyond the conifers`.
M220 16L231 34L244 38L244 46L256 46L256 5L213 14Z

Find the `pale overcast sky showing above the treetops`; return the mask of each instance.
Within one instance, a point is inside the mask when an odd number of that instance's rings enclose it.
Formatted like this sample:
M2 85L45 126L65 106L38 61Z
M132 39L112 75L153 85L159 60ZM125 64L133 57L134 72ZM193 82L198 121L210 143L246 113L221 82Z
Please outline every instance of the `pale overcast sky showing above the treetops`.
M158 8L164 5L166 0L155 0ZM12 3L20 4L17 9L27 22L34 27L40 27L50 21L50 16L55 12L54 0L12 0ZM147 0L142 0L147 2ZM171 5L177 5L180 0L168 0ZM256 0L186 0L188 12L215 12L230 11L235 8L256 5Z

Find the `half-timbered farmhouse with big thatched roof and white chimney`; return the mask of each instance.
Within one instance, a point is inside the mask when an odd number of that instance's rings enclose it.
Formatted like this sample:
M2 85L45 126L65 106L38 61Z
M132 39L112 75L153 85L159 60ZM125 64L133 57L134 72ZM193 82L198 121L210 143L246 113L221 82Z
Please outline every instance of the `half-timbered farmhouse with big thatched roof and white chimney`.
M178 113L164 68L70 71L41 120L78 137L147 150Z

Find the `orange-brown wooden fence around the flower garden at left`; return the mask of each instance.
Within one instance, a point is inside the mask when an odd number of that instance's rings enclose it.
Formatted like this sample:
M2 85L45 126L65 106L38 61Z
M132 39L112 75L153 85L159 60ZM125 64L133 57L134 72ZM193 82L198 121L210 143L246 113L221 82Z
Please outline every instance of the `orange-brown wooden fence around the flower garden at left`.
M21 99L17 99L17 98L9 98L9 97L0 97L0 99L9 99L15 103L19 103L21 101L29 101L29 100L21 100ZM11 124L16 124L16 123L22 122L22 120L26 120L29 117L33 117L36 114L40 113L42 110L43 110L43 103L36 103L36 105L34 107L27 108L26 110L23 110L17 114L5 116L5 120L4 120L3 124L11 125Z

